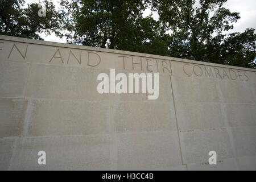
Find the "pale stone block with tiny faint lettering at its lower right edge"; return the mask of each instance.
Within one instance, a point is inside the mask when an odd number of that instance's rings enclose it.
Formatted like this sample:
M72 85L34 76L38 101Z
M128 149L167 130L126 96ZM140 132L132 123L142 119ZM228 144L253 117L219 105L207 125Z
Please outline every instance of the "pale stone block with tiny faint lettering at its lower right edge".
M181 130L180 142L184 164L207 162L209 151L216 151L218 160L234 157L226 129Z

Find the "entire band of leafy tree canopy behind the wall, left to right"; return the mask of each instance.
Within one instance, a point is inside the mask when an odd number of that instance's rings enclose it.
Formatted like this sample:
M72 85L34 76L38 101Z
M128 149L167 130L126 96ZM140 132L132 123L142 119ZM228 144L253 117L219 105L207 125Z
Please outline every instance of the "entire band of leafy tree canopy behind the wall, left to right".
M181 57L256 68L256 34L227 34L240 19L223 5L227 0L60 0L56 11L44 0L46 16L23 0L0 0L0 34L40 38L55 32L68 43ZM151 9L159 14L144 17ZM64 31L63 31L64 30Z

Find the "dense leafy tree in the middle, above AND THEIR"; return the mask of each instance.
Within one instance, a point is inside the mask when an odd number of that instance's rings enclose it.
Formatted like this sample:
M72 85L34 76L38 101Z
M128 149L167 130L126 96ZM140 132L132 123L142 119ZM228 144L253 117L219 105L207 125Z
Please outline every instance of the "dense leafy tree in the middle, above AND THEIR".
M69 43L167 55L166 27L143 18L148 1L76 0L61 5L71 13L66 22Z

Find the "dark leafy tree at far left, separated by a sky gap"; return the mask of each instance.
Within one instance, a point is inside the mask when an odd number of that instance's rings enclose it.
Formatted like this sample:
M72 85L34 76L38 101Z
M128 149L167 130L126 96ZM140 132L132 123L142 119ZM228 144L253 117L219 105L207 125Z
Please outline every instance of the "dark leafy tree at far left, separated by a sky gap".
M61 36L64 14L57 12L52 2L43 3L47 13L40 17L36 3L24 8L24 0L0 0L0 34L33 39L39 39L42 32Z

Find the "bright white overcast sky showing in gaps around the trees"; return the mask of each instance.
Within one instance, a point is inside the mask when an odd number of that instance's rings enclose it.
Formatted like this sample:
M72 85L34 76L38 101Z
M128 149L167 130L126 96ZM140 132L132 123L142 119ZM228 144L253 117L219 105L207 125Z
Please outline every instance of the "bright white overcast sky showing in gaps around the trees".
M52 0L53 3L55 3L56 6L58 6L58 1L57 0ZM196 0L197 3L199 0ZM39 0L27 0L26 3L31 3L35 2L38 3ZM256 29L256 1L255 0L228 0L225 4L224 7L229 9L231 12L238 12L240 13L241 18L238 20L237 23L234 23L234 29L227 32L232 33L232 32L243 32L245 31L246 28L255 28ZM143 16L147 16L151 13L150 9L147 9L144 11ZM153 13L153 18L158 19L158 13L152 12ZM60 39L57 38L54 34L52 35L41 35L44 40L47 41L52 41L52 42L61 42L61 43L66 43L65 38Z

